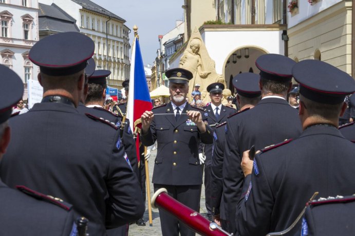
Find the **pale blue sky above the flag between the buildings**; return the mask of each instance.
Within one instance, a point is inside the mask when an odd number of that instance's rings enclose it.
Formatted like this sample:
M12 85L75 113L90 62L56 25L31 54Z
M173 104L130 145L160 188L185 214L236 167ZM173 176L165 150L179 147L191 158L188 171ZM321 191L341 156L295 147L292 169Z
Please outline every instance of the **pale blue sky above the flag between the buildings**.
M153 65L157 56L158 35L164 35L174 29L176 20L183 20L183 0L91 1L126 20L125 25L131 29L130 45L134 38L133 26L137 25L145 66Z

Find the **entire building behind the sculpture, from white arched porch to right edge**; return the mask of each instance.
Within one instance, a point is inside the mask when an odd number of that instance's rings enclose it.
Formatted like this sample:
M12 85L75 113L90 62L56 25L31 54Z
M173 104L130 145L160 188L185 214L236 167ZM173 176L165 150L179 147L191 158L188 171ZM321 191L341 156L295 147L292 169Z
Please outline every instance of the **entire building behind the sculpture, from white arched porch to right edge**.
M265 53L296 61L319 59L355 74L351 0L184 0L185 40L197 28L218 74L259 73ZM178 67L186 44L169 61Z

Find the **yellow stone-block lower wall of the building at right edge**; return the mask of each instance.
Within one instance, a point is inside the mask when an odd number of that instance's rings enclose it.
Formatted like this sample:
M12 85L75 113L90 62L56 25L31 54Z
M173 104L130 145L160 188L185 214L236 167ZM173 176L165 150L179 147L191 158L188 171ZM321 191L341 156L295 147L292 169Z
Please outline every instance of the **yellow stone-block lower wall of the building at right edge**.
M302 9L300 9L301 11ZM351 75L351 3L341 2L288 29L288 56L321 60Z

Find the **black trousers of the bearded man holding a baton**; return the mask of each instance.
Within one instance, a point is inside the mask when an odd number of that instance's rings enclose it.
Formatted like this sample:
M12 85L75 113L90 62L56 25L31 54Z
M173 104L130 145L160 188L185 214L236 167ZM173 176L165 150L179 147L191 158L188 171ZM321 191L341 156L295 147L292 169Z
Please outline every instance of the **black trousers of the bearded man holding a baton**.
M154 191L166 188L167 194L182 204L199 212L201 185L164 185L154 184ZM195 232L179 222L171 213L159 209L161 231L163 236L194 236Z

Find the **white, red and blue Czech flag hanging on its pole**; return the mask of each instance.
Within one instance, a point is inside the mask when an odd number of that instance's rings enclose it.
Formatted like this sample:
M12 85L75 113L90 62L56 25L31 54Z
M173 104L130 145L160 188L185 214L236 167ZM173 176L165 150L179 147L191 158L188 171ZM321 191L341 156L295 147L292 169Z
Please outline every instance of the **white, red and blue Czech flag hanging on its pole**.
M130 61L130 79L127 104L127 119L130 121L130 128L139 131L142 127L141 116L145 111L151 111L153 104L149 94L148 84L145 77L143 59L139 46L138 37L135 37L132 49L132 58ZM136 140L138 162L139 155L139 135Z

